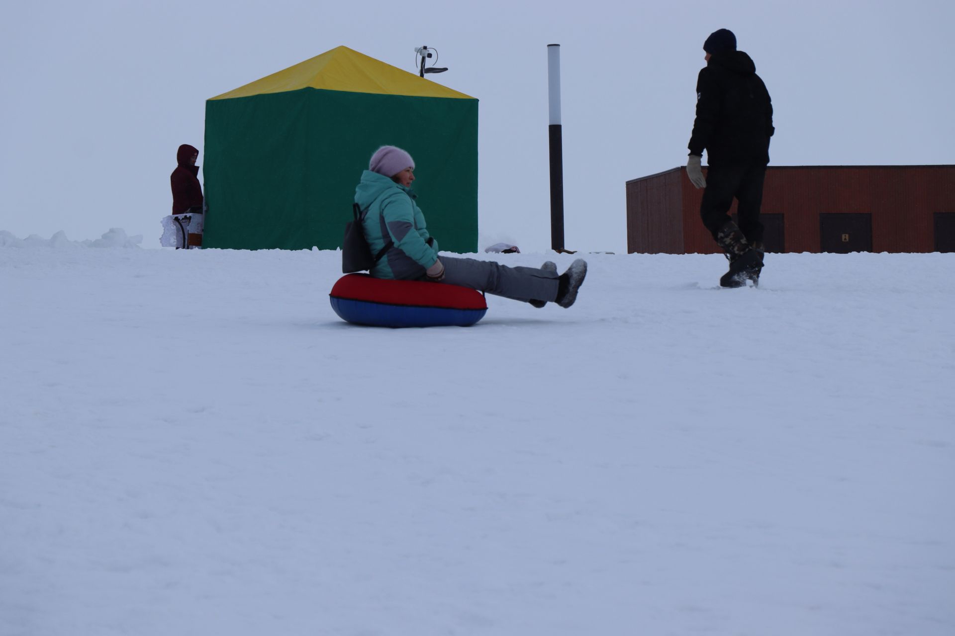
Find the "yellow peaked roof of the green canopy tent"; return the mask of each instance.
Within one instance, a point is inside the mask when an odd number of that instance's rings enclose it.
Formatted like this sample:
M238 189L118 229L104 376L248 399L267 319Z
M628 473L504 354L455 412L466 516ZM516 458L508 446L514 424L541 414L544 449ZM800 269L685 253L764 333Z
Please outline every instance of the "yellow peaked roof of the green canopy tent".
M269 92L298 91L299 89L327 91L374 92L386 95L413 97L456 97L474 99L463 92L453 91L440 84L402 71L373 57L337 47L290 66L284 71L258 79L234 91L223 92L212 99L248 97Z

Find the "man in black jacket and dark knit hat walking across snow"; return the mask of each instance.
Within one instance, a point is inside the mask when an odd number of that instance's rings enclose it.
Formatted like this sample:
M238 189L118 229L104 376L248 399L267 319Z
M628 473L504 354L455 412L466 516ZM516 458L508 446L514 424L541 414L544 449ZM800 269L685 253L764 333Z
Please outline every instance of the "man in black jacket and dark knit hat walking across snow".
M713 31L703 43L706 68L696 80L696 120L690 135L687 174L696 188L706 188L700 205L703 224L730 259L723 287L758 284L763 268L763 226L759 207L763 177L770 161L773 103L753 60L736 51L732 31ZM707 151L709 170L701 162ZM732 199L739 225L727 214Z

